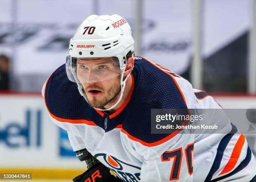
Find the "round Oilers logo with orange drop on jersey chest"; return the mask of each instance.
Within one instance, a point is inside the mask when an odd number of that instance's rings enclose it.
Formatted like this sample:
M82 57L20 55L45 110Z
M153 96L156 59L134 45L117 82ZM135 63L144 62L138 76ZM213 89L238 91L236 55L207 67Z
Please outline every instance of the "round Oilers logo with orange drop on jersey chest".
M141 180L140 167L130 165L105 153L96 154L94 157L114 172L123 182L139 182Z

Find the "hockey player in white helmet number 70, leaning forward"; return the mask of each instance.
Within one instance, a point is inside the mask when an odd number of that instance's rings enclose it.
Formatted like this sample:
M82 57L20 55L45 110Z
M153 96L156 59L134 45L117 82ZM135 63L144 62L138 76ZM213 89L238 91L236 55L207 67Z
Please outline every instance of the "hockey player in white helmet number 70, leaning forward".
M225 134L151 134L151 109L222 108L179 75L134 57L133 43L123 17L91 15L44 84L51 120L89 168L73 181L255 181L254 156L227 118Z

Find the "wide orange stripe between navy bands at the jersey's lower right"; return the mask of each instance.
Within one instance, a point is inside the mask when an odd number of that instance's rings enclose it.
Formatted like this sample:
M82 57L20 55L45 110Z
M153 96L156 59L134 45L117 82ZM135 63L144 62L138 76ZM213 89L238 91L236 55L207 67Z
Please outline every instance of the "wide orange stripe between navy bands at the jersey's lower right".
M238 158L241 154L241 150L243 148L244 142L245 142L245 137L243 134L241 134L236 142L236 145L235 145L233 152L228 160L228 163L225 165L225 167L223 168L223 170L220 172L219 175L223 175L223 174L233 170L233 168L235 167L235 165L238 161Z

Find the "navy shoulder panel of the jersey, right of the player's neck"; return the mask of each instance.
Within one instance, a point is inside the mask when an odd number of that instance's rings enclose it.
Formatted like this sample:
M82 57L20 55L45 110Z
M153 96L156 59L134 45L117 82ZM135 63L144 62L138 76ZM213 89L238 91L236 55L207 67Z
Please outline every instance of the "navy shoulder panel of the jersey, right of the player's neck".
M126 106L122 131L136 141L151 146L170 134L151 134L151 109L187 109L172 75L143 57L135 57L140 76Z

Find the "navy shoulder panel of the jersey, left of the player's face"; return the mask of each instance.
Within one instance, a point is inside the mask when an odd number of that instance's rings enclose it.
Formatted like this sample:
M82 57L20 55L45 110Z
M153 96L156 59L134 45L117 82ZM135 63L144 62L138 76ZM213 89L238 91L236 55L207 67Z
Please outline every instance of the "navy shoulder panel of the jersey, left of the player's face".
M88 120L87 103L80 95L77 84L71 82L65 65L49 77L45 88L45 102L49 112L68 120Z

